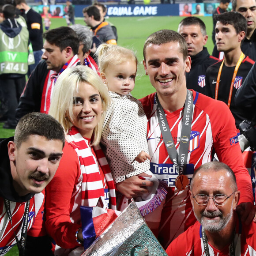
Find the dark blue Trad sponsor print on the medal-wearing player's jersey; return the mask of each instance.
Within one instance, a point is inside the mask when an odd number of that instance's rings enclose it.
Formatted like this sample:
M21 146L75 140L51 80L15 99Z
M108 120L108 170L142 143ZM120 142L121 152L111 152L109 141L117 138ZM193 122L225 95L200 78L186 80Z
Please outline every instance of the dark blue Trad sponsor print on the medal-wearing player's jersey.
M173 164L157 164L150 163L150 170L158 178L159 181L166 181L169 187L175 187L175 180L178 176L177 169ZM194 173L194 165L187 164L184 174L189 179L189 184Z

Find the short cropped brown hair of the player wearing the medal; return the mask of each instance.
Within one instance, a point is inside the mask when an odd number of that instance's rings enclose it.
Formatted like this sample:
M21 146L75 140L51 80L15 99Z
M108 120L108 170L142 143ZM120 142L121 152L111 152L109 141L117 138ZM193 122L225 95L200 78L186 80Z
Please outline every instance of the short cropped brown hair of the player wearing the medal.
M144 43L143 57L146 61L146 47L149 44L162 45L169 42L179 42L183 59L185 60L188 56L188 46L183 36L173 30L159 30L151 34Z

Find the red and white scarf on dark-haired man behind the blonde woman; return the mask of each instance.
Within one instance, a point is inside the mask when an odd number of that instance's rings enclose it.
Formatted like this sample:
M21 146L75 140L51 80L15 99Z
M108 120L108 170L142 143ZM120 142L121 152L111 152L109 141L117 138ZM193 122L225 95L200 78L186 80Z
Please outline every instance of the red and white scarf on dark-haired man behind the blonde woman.
M57 73L53 70L50 70L46 76L44 88L43 88L43 94L41 99L41 113L47 113L49 112L50 104L51 104L51 98L53 96L53 88L54 85L59 77L59 75L66 69L70 67L75 67L77 64L79 64L80 59L77 57L77 55L73 56L70 60L68 60L67 63L64 64L64 66L61 68L60 72Z

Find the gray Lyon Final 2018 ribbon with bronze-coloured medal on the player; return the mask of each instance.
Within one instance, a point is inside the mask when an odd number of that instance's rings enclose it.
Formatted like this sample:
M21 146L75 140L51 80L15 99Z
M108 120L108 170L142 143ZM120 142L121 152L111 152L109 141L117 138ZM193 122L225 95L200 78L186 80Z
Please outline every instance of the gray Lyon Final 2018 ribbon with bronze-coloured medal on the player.
M193 116L193 95L192 92L187 90L186 102L184 106L184 113L182 118L181 139L179 154L174 145L173 136L170 132L169 124L166 118L166 114L158 100L157 94L155 94L155 100L157 104L157 117L159 127L163 136L166 150L169 154L169 158L173 161L175 168L179 175L175 180L175 186L179 190L184 190L188 187L188 177L184 175L186 169L189 139L191 132L192 116Z

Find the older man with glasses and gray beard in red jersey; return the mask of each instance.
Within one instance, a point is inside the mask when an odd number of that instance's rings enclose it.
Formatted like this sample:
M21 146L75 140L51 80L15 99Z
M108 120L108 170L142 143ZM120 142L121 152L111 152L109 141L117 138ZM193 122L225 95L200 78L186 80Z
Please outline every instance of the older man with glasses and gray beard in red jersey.
M200 166L189 195L198 221L169 245L168 255L256 255L256 224L241 224L235 211L240 191L226 164Z

